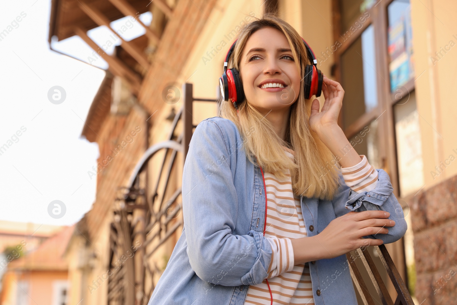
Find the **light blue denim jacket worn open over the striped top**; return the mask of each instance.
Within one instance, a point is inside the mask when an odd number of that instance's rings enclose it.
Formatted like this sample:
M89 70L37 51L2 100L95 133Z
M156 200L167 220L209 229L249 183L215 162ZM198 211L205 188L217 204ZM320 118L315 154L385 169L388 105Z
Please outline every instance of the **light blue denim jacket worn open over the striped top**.
M226 118L197 125L183 169L184 227L148 305L243 305L249 285L267 277L272 249L263 236L266 193L260 167L247 159L242 144ZM377 171L377 186L369 192L352 191L340 173L333 200L301 196L308 236L352 210L381 209L396 224L388 234L367 237L399 240L407 228L403 210L388 174ZM317 260L309 269L316 305L357 304L345 255Z

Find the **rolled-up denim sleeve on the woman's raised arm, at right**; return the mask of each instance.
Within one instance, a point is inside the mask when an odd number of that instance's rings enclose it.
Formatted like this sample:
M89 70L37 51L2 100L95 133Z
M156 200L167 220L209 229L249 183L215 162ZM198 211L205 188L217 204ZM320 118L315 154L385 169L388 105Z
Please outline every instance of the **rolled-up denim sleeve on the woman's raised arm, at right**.
M393 227L388 227L388 234L374 234L367 238L380 239L384 244L398 241L406 232L407 225L403 209L398 202L389 175L383 169L376 169L378 181L371 191L356 193L348 187L340 173L340 188L332 200L335 216L339 217L351 211L383 210L390 213L389 219L395 221Z

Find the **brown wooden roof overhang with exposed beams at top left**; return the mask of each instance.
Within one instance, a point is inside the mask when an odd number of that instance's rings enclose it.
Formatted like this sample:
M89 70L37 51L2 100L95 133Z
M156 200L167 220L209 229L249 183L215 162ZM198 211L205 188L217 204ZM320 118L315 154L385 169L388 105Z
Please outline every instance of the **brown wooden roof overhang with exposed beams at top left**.
M125 41L111 28L110 22L124 16L138 16L151 10L151 5L157 7L166 17L170 18L173 11L165 0L52 0L49 21L48 42L51 46L53 36L57 41L78 35L96 53L109 64L109 70L121 76L131 87L133 94L138 95L143 80L143 71L149 70L149 60L144 54L144 48L149 41L157 44L160 35L153 28L144 25L139 18L137 21L145 29L145 35ZM87 31L106 26L113 35L122 40L113 55L106 54L90 37Z

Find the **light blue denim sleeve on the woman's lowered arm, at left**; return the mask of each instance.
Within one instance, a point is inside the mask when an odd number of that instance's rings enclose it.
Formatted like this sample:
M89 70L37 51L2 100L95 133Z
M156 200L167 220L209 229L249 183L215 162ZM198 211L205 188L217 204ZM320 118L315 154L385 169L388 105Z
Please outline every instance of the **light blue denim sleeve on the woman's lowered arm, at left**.
M189 262L199 278L224 286L260 284L273 250L262 232L234 235L239 202L223 132L213 121L197 125L182 177L182 209ZM249 198L242 198L249 200Z

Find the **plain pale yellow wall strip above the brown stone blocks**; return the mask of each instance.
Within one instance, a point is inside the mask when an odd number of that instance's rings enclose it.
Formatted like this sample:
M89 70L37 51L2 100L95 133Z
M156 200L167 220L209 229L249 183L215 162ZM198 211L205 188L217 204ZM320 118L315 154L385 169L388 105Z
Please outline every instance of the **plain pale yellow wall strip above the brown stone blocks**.
M424 190L457 174L456 11L452 0L411 0Z

